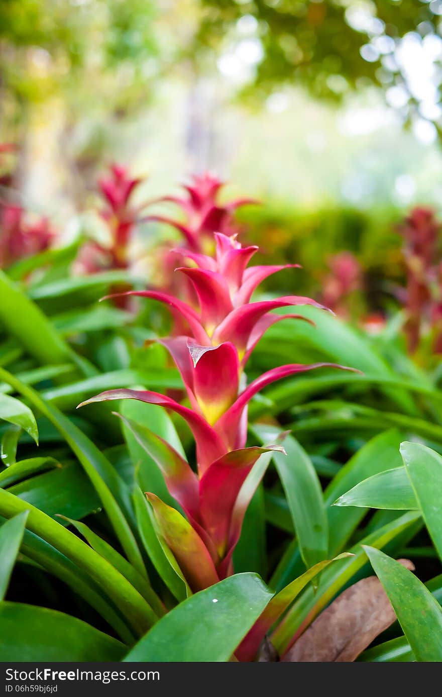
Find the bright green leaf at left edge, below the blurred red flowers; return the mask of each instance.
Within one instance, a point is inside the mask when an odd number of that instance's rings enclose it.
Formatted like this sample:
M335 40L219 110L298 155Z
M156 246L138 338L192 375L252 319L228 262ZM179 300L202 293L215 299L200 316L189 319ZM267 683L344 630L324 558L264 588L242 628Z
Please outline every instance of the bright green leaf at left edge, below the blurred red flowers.
M40 308L0 269L0 324L41 364L63 363L72 351Z

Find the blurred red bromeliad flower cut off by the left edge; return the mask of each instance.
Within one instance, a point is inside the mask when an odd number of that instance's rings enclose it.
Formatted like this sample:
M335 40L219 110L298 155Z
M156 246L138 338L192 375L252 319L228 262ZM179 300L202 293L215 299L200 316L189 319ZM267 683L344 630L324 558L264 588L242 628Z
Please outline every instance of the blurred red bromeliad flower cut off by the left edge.
M20 206L3 206L0 219L0 267L10 266L26 256L46 250L54 232L46 217L26 223Z

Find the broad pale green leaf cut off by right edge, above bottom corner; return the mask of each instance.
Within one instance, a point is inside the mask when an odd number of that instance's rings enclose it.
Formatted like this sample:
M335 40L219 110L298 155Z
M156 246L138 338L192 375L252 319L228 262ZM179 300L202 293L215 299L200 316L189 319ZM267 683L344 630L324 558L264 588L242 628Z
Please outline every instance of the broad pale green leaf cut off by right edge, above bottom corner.
M442 559L442 457L420 443L402 443L401 455L425 525Z

